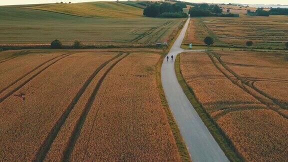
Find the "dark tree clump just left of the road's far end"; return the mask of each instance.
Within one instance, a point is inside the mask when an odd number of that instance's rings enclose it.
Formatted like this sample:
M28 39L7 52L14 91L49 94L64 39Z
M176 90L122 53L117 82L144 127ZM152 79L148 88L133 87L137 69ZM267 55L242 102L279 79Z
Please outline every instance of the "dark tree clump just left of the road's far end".
M143 15L147 17L187 17L188 15L183 12L183 8L186 7L186 4L180 1L174 4L155 2L144 9Z

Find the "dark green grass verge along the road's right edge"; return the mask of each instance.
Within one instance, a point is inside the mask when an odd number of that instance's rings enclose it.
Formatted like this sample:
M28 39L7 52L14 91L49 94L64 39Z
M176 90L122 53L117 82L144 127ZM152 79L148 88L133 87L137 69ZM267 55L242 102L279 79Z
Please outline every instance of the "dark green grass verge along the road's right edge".
M198 115L201 117L202 121L204 122L214 139L217 141L227 158L230 161L243 161L242 157L240 157L240 155L236 153L235 147L233 146L232 142L205 111L201 103L198 102L196 96L193 93L193 90L185 82L180 69L179 55L177 55L175 59L175 73L178 82L181 85L190 103L193 105L194 109L197 111Z

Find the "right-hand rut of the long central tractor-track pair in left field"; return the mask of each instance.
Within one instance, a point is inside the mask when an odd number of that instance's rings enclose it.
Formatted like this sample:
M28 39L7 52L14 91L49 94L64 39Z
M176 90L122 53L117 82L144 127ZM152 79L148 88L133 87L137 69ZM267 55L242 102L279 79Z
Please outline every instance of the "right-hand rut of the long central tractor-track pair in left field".
M87 103L85 104L85 107L82 111L82 114L80 115L76 126L74 127L74 130L72 132L72 136L69 139L69 144L66 147L66 150L64 152L64 156L62 158L62 161L69 161L70 155L74 149L75 143L78 139L78 136L80 135L82 126L86 120L86 117L90 111L90 108L92 107L92 104L96 98L96 94L98 92L98 89L100 88L104 78L106 77L106 75L109 73L109 71L118 63L120 62L122 59L124 59L126 56L128 56L129 53L126 53L126 55L124 55L122 58L118 59L116 62L114 62L112 65L110 65L110 67L104 72L104 74L100 77L100 79L98 80L95 88L93 89L93 92L91 93Z

